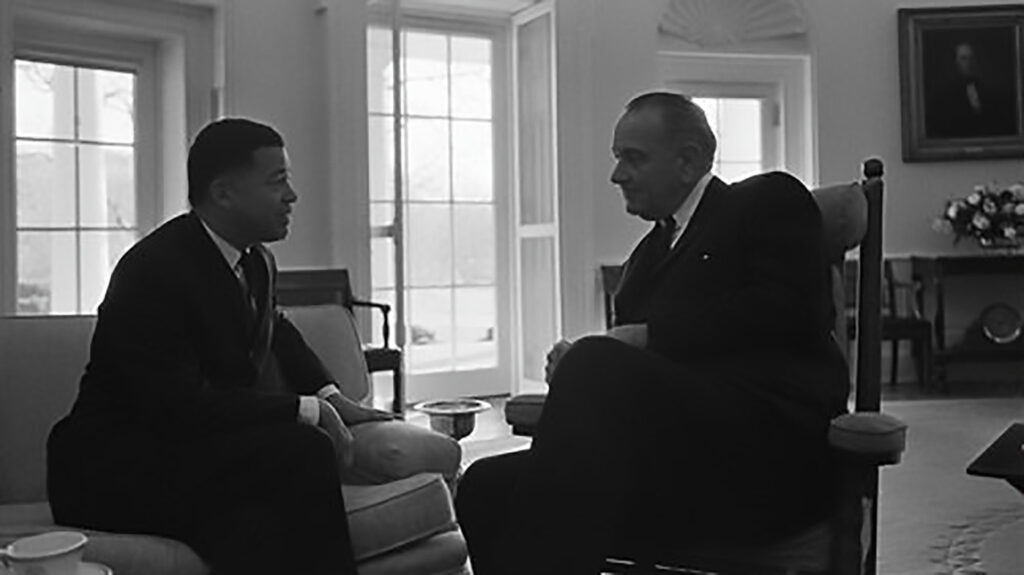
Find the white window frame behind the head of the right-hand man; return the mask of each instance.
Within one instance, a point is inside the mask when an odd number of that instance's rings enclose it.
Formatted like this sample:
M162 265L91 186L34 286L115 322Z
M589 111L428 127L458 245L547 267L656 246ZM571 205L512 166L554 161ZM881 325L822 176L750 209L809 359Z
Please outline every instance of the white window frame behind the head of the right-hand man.
M781 127L777 165L808 185L816 181L809 56L663 51L657 63L660 84L668 89L716 87L714 95L700 94L709 97L775 92Z

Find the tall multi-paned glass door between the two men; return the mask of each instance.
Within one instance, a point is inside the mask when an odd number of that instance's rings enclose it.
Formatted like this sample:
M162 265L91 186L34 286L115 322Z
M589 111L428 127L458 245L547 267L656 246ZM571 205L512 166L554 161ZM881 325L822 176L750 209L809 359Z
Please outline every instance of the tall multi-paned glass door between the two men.
M498 41L473 31L401 29L396 146L392 31L372 26L367 34L373 296L403 306L407 400L508 393Z

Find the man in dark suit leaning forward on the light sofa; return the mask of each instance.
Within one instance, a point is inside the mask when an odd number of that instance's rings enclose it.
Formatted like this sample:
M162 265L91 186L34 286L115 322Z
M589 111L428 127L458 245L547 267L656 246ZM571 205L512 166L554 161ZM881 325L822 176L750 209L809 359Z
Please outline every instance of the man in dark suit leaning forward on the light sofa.
M214 573L356 572L346 426L390 415L342 396L274 307L262 242L287 235L296 200L272 128L226 119L196 137L193 210L118 263L51 432L57 522L179 539Z

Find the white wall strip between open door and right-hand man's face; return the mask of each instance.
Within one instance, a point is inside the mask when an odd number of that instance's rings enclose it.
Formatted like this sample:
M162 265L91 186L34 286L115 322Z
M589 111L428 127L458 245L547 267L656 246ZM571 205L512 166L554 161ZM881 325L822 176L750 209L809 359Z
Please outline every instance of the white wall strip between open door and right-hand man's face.
M562 325L600 329L598 266L620 263L645 226L608 181L623 106L655 87L660 0L556 0Z

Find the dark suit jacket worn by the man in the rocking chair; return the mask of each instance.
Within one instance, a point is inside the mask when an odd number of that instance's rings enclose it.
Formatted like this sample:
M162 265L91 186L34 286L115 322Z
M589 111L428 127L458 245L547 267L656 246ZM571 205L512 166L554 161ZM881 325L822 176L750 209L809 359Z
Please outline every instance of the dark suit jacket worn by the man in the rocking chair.
M646 323L648 349L707 368L821 430L846 409L846 362L831 340L821 216L797 179L713 178L668 257L645 236L614 298L615 324Z

